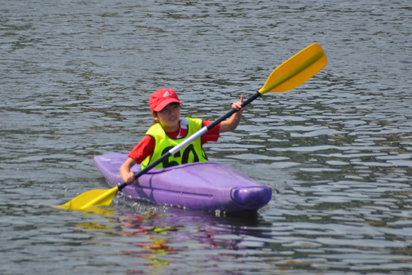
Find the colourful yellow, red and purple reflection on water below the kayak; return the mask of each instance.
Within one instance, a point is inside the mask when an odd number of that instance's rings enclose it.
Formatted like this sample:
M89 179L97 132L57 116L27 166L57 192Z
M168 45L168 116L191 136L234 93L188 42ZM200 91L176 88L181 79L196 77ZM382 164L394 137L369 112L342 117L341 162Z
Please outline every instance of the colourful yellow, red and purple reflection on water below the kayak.
M86 217L94 216L91 220L100 219L100 223L73 223L78 233L63 237L111 235L117 243L116 257L122 257L122 263L133 263L134 269L128 272L139 272L145 267L171 272L176 265L187 261L194 270L205 264L217 265L221 250L236 253L262 248L264 239L271 236L271 223L266 223L256 213L215 217L213 213L175 208L166 212L136 212L136 208L149 209L151 206L142 203L129 206L131 210L127 212L124 206L117 206L113 212L91 211ZM81 234L79 228L83 228ZM228 270L233 267L231 265Z

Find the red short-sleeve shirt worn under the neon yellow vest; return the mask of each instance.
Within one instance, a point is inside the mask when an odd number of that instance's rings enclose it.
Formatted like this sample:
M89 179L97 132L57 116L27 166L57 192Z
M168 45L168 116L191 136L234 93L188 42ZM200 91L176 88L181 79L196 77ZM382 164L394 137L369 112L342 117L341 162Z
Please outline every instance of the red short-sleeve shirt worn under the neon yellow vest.
M207 126L211 124L212 122L209 120L203 120L203 126ZM202 135L202 145L205 144L206 142L217 142L219 138L219 130L220 130L220 123L216 126L214 126L210 131ZM187 133L186 129L179 129L176 132L165 132L166 135L172 138L176 138L177 135L179 135L179 132L181 131L181 136L185 136ZM156 146L156 140L150 136L150 135L145 135L139 144L133 148L132 151L128 154L128 157L131 157L135 159L135 161L140 164L141 162L146 159L146 157L152 155L153 151L155 151L155 146Z

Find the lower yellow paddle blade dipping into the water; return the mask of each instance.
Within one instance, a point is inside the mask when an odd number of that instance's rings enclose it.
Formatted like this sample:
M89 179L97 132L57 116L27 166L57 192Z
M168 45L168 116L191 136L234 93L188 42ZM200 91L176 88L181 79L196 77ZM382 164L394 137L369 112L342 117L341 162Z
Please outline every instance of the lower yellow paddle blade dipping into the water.
M83 210L91 206L110 206L118 191L117 186L111 189L90 190L78 195L71 201L67 201L67 203L54 207L67 210Z

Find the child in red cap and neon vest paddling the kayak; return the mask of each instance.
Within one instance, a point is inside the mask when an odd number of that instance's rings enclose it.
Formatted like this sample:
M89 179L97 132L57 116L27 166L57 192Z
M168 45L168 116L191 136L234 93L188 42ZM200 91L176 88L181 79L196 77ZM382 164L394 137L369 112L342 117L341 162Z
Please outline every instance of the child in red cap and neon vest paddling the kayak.
M131 184L135 181L134 173L130 172L135 164L141 164L141 168L148 166L151 162L159 159L171 148L183 142L203 126L212 122L198 118L180 118L181 102L172 89L159 89L149 98L154 124L148 129L143 139L128 154L128 159L120 167L120 175L124 182ZM183 104L182 104L183 105ZM238 110L228 120L220 122L213 129L205 133L201 138L187 145L181 151L166 159L155 168L166 168L170 166L192 163L207 162L207 156L202 145L206 142L216 142L219 133L233 131L242 118L242 100L231 105Z

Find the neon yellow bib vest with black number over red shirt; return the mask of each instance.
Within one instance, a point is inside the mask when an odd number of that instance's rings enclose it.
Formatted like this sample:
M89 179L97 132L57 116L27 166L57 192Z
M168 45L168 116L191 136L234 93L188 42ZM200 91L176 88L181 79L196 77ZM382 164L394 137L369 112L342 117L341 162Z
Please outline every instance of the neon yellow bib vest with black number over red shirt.
M203 126L203 121L199 118L183 118L181 119L181 124L183 123L187 124L187 134L185 135L185 137L176 139L166 135L160 123L156 123L155 125L151 126L150 129L148 129L146 135L151 135L155 138L156 146L153 155L146 157L146 159L141 162L142 169L148 166L148 164L150 164L151 162L154 162L156 159L159 159L159 157L161 157L165 153L168 153L171 148L185 141L187 137L190 137L191 135L196 133L196 131L200 130ZM202 148L201 137L182 148L181 151L170 156L169 159L165 159L165 161L157 165L155 168L167 168L170 166L192 162L207 162L207 156Z

